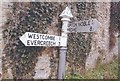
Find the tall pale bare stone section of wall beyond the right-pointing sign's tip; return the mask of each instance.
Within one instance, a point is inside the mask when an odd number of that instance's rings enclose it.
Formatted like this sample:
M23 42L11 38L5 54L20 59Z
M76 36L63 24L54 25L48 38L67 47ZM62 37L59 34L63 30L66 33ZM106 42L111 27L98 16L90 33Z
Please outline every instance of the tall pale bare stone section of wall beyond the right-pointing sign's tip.
M110 23L110 3L96 3L95 10L97 19L101 23L100 28L92 36L92 48L86 59L86 69L95 68L97 62L107 62L109 59L109 23Z

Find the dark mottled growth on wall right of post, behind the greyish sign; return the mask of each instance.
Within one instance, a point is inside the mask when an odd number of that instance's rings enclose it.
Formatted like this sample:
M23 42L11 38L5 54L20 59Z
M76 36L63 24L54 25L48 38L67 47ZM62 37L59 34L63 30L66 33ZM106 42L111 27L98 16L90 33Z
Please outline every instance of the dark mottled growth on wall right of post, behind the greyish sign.
M72 4L74 18L71 21L81 21L96 18L96 3L76 2ZM75 10L75 11L74 11ZM84 73L86 57L91 49L93 33L68 34L67 68L68 74Z

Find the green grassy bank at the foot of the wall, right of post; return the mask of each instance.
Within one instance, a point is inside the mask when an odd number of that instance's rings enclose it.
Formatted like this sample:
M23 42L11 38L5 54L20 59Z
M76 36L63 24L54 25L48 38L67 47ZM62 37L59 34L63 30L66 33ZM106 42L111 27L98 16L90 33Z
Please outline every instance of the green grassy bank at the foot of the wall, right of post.
M107 65L99 65L85 74L66 75L65 79L118 79L118 61L112 61Z

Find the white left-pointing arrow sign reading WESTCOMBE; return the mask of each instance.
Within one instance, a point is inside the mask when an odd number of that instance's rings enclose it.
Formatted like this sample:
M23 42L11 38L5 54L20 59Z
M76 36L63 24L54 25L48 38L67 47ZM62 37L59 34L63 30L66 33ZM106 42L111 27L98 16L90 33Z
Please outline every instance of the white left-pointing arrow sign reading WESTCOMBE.
M67 38L48 34L26 32L20 37L25 46L66 46Z

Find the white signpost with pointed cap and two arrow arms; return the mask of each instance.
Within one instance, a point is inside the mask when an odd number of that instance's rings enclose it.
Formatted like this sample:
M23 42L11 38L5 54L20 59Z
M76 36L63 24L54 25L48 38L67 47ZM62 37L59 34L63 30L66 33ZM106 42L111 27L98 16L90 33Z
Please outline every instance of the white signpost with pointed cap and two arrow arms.
M70 23L70 18L73 17L69 7L60 14L62 17L62 34L61 36L39 34L33 32L26 32L20 37L20 40L25 46L61 46L59 56L59 69L58 79L63 79L65 75L65 63L66 63L66 52L67 52L67 33L74 32L95 32L100 23L96 19L84 20Z

